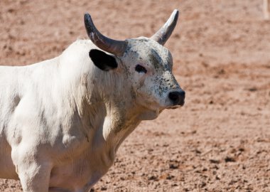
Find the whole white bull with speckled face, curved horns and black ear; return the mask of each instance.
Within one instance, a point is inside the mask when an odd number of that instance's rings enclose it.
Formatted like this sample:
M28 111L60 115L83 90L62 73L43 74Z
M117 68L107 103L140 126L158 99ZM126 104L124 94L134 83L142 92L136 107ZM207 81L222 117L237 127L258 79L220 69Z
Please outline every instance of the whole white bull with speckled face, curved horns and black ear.
M0 67L0 178L23 191L89 191L146 119L184 104L163 44L178 11L151 38L115 41L85 14L89 40L51 60Z

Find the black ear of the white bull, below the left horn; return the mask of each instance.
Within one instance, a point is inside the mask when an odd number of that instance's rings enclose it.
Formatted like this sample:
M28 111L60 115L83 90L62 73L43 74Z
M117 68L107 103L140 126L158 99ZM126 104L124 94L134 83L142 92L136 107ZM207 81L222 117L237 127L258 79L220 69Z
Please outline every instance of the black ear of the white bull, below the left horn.
M97 68L101 70L108 71L117 68L117 60L102 50L92 49L89 52L89 56Z

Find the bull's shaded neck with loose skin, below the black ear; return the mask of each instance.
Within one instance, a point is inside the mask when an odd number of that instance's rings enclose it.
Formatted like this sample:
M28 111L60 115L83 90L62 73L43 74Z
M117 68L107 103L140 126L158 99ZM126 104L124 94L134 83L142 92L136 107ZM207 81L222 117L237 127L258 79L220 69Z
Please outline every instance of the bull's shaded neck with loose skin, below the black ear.
M92 151L100 151L104 162L111 164L121 142L141 122L141 110L135 107L135 97L128 91L131 87L121 79L123 77L96 68L93 70L96 75L88 77L88 83L81 82L77 87L79 96L76 102L81 109L82 131L92 143ZM82 91L85 92L79 94Z

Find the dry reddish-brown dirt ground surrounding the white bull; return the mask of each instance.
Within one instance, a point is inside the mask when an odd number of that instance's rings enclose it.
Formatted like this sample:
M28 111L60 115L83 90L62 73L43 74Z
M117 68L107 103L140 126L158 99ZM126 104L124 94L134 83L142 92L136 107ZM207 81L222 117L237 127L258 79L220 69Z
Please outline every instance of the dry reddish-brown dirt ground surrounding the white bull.
M180 10L166 47L185 106L142 122L92 191L270 191L270 21L262 0L0 1L0 63L28 65L87 38L151 36ZM21 191L0 179L0 191Z

